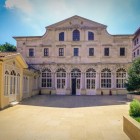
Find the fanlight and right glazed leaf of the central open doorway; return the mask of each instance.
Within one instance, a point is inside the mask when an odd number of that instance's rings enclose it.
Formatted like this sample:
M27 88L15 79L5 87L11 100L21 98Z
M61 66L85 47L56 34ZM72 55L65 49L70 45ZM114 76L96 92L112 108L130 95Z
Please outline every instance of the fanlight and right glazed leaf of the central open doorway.
M71 78L76 79L76 89L80 89L81 71L78 68L71 71Z

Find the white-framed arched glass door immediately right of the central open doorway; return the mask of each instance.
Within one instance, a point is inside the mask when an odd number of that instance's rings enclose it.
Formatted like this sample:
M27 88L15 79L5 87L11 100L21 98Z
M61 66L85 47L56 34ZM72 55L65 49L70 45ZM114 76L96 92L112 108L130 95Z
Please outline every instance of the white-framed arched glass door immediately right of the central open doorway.
M86 87L87 89L95 89L96 71L92 68L86 71Z

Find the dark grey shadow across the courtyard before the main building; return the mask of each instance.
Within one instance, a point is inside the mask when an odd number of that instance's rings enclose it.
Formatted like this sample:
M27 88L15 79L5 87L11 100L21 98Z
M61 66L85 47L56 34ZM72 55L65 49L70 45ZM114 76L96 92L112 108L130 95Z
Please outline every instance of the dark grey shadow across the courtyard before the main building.
M126 95L63 96L36 95L23 100L20 104L58 108L79 108L108 105L123 105L129 100Z

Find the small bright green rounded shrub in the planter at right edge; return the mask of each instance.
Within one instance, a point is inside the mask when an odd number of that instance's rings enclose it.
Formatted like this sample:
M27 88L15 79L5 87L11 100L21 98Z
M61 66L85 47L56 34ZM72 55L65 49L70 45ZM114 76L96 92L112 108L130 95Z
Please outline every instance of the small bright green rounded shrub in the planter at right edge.
M138 100L133 100L130 103L129 114L133 117L140 117L140 102Z

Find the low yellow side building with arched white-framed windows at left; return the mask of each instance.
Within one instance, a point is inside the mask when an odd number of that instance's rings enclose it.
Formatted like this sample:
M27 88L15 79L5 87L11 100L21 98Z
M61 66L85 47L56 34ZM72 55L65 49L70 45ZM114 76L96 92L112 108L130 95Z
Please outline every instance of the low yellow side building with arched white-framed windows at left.
M28 69L21 54L0 52L0 109L38 94L38 77L37 71Z

